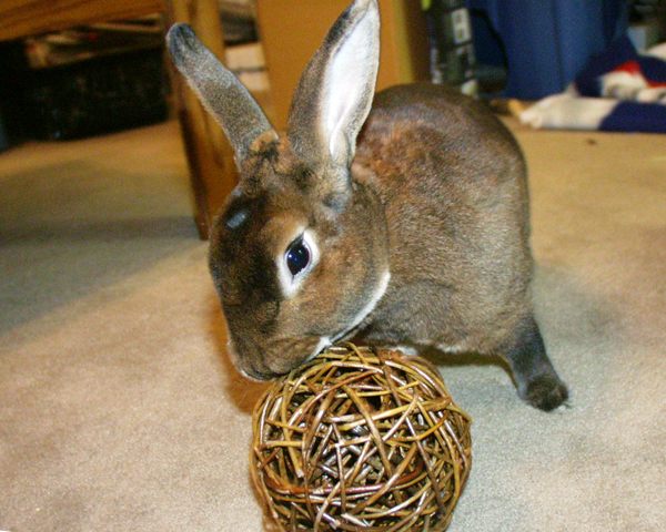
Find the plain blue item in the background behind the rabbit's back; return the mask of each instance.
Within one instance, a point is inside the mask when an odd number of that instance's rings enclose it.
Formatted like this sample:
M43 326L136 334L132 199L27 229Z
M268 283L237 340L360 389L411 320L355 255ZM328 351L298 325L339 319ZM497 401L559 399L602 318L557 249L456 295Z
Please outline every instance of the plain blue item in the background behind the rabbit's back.
M629 0L467 0L486 13L508 70L505 95L562 92L595 53L628 29ZM496 43L494 43L496 45ZM475 39L475 47L484 43Z

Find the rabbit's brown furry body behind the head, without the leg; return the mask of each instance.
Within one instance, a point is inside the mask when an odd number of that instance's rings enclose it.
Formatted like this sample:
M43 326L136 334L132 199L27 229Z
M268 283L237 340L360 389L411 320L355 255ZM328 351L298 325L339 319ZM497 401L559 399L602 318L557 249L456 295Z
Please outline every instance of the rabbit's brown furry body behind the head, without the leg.
M391 88L375 96L352 171L384 204L391 247L370 338L501 342L529 308L532 275L525 164L502 122L452 89Z

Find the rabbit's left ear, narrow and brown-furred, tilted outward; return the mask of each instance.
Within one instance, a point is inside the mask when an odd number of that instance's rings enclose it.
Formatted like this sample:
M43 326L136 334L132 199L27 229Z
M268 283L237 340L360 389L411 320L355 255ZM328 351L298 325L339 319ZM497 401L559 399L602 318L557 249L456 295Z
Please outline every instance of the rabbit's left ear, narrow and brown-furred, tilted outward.
M174 64L224 130L236 161L242 161L252 142L273 130L261 108L186 24L169 30L167 45Z

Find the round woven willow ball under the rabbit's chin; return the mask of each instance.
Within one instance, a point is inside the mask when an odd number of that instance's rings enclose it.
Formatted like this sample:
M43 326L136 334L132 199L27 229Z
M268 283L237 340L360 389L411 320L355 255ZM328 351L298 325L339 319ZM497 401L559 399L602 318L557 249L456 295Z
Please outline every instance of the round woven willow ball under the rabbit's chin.
M264 393L250 469L282 531L442 531L470 423L425 360L344 344Z

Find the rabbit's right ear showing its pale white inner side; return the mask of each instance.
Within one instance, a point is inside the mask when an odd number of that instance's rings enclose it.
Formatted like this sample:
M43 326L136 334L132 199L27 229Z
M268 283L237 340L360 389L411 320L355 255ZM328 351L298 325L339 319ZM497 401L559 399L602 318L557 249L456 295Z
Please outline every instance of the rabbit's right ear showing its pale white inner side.
M287 136L313 164L349 166L367 117L380 61L376 0L355 0L329 30L296 88Z

